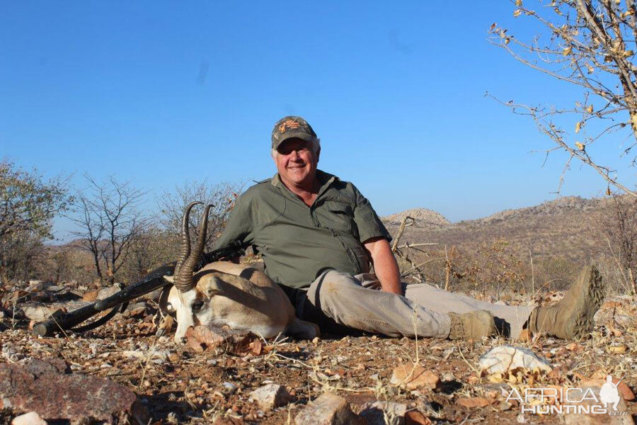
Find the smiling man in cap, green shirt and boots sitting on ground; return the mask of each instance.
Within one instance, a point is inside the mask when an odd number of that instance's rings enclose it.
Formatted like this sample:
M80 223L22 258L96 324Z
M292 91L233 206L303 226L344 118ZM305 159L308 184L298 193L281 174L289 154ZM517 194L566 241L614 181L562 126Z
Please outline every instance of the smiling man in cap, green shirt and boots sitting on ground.
M239 197L217 248L237 239L253 246L300 319L323 331L449 339L496 331L516 339L524 328L579 339L592 330L603 300L595 267L584 268L553 307L491 304L401 283L389 233L352 183L316 168L320 141L303 118L275 124L271 153L277 174Z

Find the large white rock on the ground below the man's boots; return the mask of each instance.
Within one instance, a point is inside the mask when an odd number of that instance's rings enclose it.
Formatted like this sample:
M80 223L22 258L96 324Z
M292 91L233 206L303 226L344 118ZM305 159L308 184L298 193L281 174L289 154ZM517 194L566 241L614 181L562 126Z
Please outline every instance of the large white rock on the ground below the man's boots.
M478 360L482 370L487 373L505 373L508 370L524 368L534 370L538 368L550 372L553 368L546 359L537 356L527 348L502 345L483 354Z

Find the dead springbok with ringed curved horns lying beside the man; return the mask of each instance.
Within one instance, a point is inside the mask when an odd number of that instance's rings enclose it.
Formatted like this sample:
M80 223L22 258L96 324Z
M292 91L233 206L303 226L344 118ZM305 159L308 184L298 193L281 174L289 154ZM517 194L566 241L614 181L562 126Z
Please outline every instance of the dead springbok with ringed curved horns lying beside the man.
M183 213L181 252L173 286L160 297L161 309L177 319L175 341L183 342L188 327L198 324L227 325L263 338L278 334L302 339L318 336L319 327L298 319L283 290L263 271L246 264L216 261L193 273L203 253L212 207L206 205L197 244L190 252L188 219L190 210L198 204L202 203L190 203Z

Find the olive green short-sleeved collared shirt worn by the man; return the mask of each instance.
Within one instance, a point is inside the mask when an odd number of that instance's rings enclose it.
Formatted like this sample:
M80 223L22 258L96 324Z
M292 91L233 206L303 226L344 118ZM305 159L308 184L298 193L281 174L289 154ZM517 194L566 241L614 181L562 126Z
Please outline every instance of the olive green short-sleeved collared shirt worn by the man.
M363 242L391 240L378 215L358 189L316 171L321 188L311 207L281 182L279 175L257 183L236 201L217 248L240 240L263 256L265 273L276 283L306 288L328 268L369 272Z

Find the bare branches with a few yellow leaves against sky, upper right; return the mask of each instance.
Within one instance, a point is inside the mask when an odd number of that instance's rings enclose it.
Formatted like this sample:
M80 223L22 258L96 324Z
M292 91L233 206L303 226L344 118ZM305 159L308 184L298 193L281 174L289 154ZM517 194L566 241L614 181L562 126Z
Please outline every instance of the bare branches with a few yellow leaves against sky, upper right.
M537 11L523 6L522 0L512 3L513 15L532 18L538 24L539 35L531 41L520 40L494 23L489 28L489 41L527 67L583 91L575 108L500 103L514 113L530 116L539 132L556 144L556 148L544 151L547 156L555 149L568 154L565 170L573 159L578 159L595 169L609 186L637 197L634 183L621 181L615 166L600 164L586 149L626 129L631 129L627 137L633 142L618 158L631 153L637 145L637 66L633 63L635 53L628 47L637 45L634 0L626 1L624 6L610 0L537 0ZM603 105L595 108L594 103L599 101ZM560 125L573 115L575 132L570 133ZM588 135L585 127L589 124L600 130ZM637 157L632 159L633 164L636 161Z

